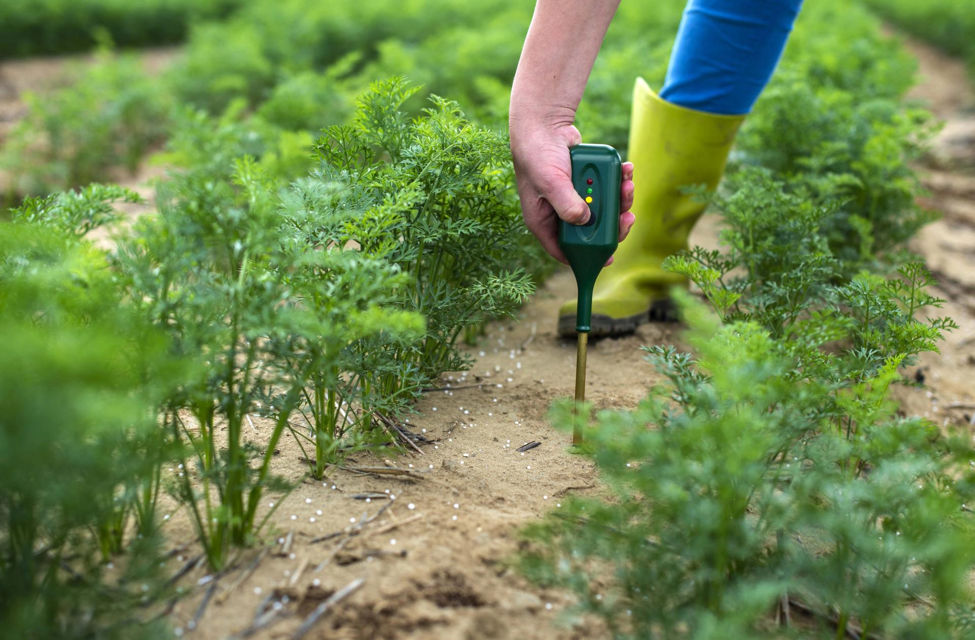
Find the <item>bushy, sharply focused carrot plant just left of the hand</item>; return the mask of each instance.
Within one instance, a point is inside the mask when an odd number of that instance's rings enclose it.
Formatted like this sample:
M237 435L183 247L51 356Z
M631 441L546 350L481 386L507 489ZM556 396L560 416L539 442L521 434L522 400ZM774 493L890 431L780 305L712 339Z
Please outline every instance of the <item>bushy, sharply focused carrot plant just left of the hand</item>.
M374 83L354 126L326 130L320 168L298 184L297 214L286 216L306 242L353 243L409 276L396 304L422 314L426 333L390 357L430 379L469 365L455 346L464 327L513 315L534 286L505 136L438 96L410 121L400 108L416 91L403 78ZM379 389L401 386L385 377Z

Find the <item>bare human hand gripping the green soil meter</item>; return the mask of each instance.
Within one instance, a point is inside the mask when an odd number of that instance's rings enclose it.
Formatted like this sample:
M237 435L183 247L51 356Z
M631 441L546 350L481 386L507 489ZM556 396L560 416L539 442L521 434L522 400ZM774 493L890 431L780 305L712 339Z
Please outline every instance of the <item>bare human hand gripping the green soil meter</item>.
M572 185L568 154L568 148L579 144L582 136L568 122L515 125L517 121L512 118L511 153L525 224L552 257L568 264L559 247L559 219L570 224L585 224L591 215ZM619 242L623 242L636 219L630 211L633 207L633 163L623 163L619 207ZM610 257L606 265L611 263Z

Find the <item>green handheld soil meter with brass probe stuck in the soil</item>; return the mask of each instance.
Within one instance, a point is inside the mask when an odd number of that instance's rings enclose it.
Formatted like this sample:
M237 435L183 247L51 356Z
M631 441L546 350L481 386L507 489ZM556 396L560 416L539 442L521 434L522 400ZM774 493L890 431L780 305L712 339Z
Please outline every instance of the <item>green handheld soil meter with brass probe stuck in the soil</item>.
M578 304L575 330L578 351L575 358L576 412L585 401L586 346L592 328L593 285L606 260L619 245L619 192L623 179L619 153L605 144L578 144L568 150L572 161L572 184L589 205L586 224L559 221L559 247L575 275ZM582 442L582 425L576 420L572 444Z

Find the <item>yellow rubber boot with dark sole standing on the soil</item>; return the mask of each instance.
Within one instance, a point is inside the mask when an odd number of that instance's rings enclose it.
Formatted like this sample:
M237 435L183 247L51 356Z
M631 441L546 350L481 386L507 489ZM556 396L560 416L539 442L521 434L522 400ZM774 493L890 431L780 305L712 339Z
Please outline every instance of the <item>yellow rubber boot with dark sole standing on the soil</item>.
M686 281L663 271L660 264L687 248L690 230L705 207L681 190L695 184L709 189L718 185L744 119L671 104L637 78L630 121L637 221L616 249L613 264L596 281L590 335L628 333L666 315L668 291ZM559 333L575 333L575 300L559 310Z

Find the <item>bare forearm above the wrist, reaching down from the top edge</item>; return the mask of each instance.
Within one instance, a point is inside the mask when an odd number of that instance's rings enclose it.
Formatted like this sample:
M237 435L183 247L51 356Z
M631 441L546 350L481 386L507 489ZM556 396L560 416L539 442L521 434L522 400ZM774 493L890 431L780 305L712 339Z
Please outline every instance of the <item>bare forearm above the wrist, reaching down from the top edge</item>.
M538 0L511 90L510 129L571 125L619 0Z

